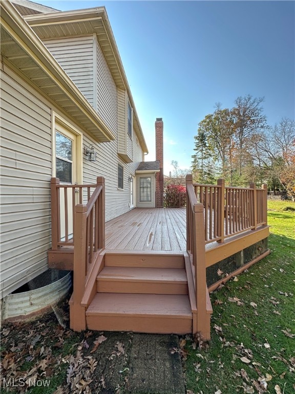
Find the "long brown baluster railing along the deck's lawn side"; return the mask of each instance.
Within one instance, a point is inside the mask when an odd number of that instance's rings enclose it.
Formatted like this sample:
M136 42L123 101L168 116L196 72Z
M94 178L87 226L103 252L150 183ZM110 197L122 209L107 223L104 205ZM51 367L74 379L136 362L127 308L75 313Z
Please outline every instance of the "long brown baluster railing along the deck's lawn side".
M204 207L205 243L224 242L232 235L267 224L267 185L262 189L193 184L198 203Z

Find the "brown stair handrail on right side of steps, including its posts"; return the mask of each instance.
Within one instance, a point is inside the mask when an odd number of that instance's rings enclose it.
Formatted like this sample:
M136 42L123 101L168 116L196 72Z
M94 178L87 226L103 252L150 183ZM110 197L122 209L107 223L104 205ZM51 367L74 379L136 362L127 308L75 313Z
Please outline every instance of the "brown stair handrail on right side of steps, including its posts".
M213 200L213 195L210 196ZM192 175L186 175L186 249L191 259L197 305L197 332L210 339L209 300L206 284L204 205L199 203Z

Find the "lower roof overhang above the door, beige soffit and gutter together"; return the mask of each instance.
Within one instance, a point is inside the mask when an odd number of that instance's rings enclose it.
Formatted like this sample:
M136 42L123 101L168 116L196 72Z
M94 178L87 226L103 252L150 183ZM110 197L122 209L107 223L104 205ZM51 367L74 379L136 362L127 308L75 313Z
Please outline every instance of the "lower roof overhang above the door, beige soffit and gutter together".
M1 55L23 72L37 89L46 93L69 117L86 129L96 141L115 139L111 129L65 73L23 17L9 2L1 6Z

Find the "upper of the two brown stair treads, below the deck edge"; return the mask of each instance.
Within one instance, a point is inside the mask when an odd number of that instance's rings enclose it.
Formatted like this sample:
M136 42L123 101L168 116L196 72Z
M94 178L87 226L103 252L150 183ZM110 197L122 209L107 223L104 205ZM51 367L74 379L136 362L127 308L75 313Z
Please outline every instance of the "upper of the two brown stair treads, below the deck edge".
M187 283L185 270L181 268L104 267L98 274L97 280Z

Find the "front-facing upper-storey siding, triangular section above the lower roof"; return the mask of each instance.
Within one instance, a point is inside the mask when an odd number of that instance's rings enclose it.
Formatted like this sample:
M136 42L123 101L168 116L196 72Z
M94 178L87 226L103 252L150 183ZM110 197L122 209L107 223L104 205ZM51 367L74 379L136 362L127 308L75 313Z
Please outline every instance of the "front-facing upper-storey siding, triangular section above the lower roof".
M93 35L46 40L44 41L44 45L80 89L89 103L96 109L96 102L93 95Z

